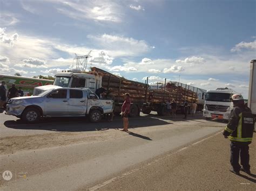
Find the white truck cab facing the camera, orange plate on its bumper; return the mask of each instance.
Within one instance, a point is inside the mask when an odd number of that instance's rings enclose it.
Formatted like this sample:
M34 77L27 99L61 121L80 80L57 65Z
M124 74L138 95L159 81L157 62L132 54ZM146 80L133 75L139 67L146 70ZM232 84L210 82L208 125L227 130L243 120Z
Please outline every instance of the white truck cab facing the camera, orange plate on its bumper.
M233 103L231 102L231 96L233 94L236 94L236 92L228 88L207 90L203 110L204 117L206 119L228 119L233 109Z

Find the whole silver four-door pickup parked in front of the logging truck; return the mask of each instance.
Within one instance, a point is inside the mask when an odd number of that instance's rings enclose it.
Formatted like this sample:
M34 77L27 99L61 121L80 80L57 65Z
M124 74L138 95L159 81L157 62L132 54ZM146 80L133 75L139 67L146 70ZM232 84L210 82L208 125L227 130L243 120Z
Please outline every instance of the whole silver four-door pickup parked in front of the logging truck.
M113 112L112 100L99 100L90 89L60 88L45 90L38 96L11 98L6 105L7 115L28 123L41 117L89 116L99 122L103 114Z

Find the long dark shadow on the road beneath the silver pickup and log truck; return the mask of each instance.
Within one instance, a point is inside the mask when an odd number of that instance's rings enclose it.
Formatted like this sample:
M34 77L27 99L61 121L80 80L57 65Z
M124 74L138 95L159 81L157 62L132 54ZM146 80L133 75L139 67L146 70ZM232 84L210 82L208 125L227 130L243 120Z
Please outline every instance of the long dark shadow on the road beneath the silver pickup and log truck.
M182 115L178 115L175 119L171 116L158 116L154 114L144 115L139 117L129 118L131 128L141 128L145 126L160 126L172 124L172 121L190 121L202 119L202 116L188 116L183 119ZM113 122L108 122L103 119L99 123L90 123L86 117L51 117L42 118L36 124L26 124L17 119L16 121L5 121L4 125L11 129L24 130L47 130L47 131L61 131L61 132L80 132L80 131L105 131L109 129L123 128L122 117L115 116ZM135 136L135 135L134 135ZM142 138L142 137L141 137Z

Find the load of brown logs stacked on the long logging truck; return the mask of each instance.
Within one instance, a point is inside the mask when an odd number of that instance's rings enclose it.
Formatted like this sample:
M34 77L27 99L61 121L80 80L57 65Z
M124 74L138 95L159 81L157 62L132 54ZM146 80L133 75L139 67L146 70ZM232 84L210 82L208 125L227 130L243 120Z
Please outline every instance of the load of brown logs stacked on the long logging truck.
M198 100L197 94L191 90L183 87L177 87L174 84L167 83L166 89L150 89L149 85L127 80L124 77L119 77L108 73L102 69L93 67L93 72L97 72L102 76L102 87L107 90L107 94L113 98L114 101L124 101L124 94L129 93L132 102L152 102L163 103L168 100L176 100L177 103L183 103L184 100L188 102Z

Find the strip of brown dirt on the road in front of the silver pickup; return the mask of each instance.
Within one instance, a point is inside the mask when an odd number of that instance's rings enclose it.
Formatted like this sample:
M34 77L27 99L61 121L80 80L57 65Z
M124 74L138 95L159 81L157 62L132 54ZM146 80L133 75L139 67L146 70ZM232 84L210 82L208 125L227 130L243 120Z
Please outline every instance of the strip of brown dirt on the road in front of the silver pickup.
M93 132L60 132L44 135L4 137L0 139L0 154L75 143L99 142L124 137L125 135L117 129L100 129Z

